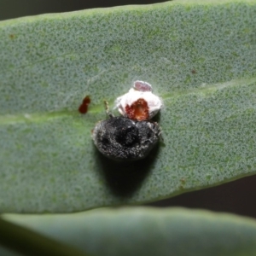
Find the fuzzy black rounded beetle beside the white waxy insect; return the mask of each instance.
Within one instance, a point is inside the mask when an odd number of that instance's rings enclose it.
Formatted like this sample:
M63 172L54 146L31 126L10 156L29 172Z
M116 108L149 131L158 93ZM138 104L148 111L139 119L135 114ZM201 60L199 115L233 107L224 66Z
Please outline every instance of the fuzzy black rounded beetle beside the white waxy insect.
M160 140L160 126L148 120L137 121L124 116L99 121L92 131L96 148L112 160L131 161L145 158Z

